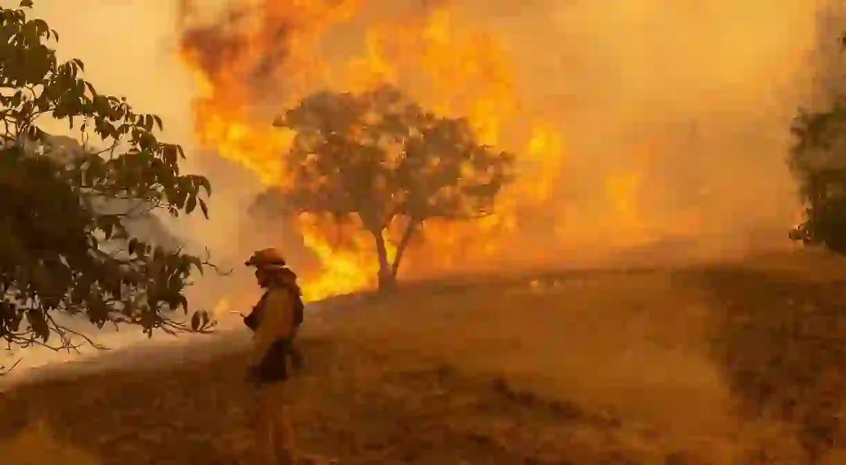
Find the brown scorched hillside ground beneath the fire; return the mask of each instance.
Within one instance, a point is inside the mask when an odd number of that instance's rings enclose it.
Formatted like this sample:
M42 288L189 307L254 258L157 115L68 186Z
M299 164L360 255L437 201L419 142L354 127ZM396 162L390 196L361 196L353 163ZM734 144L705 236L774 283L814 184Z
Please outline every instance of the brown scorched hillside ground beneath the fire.
M802 254L326 304L291 382L299 441L345 464L846 463L841 270ZM258 463L239 350L8 391L0 462Z

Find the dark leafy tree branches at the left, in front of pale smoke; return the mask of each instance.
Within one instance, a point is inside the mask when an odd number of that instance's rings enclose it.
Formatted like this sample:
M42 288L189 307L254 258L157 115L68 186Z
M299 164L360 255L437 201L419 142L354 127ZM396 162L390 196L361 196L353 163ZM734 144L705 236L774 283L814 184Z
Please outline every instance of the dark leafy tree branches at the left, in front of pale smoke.
M0 339L57 349L75 347L74 336L91 342L63 324L69 316L150 336L207 331L206 312L190 323L174 313L187 315L183 291L205 260L127 225L158 209L207 217L208 179L179 172L184 151L157 139L160 118L98 93L80 60L58 62L58 35L27 17L31 7L0 8ZM41 130L43 118L68 123L78 150Z

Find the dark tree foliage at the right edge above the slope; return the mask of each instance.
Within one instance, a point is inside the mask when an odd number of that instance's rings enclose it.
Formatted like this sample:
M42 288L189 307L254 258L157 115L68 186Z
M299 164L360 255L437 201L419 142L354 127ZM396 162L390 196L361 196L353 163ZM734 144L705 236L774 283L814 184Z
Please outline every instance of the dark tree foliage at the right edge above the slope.
M818 112L800 108L791 132L796 143L788 164L799 179L805 222L790 238L846 254L846 96L833 96Z

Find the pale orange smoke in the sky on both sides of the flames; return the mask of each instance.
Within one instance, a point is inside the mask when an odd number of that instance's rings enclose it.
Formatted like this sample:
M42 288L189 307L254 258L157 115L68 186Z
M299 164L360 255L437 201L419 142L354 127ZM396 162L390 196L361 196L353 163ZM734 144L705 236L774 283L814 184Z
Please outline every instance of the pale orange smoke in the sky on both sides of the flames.
M328 62L360 52L371 25L448 5L457 25L496 38L513 71L521 111L560 134L564 156L548 215L525 219L515 241L520 249L503 251L503 260L550 261L554 254L550 265L562 265L579 256L571 260L568 251L607 253L618 244L677 238L710 254L747 252L750 240L788 242L783 231L798 206L785 166L788 127L796 107L810 98L809 76L817 69L811 52L822 34L819 14L823 6L829 12L836 7L809 0L371 0L360 8L345 3L352 14L338 19L342 25L319 47ZM58 29L61 55L82 58L100 90L161 114L168 139L193 153L190 171L206 173L214 184L211 221L171 226L210 247L225 268L239 268L252 249L296 245L299 238L288 227L247 215L261 190L255 174L195 143L192 104L200 89L180 63L179 45L186 30L197 32L190 25L231 27L236 19L220 22L226 4L234 3L203 3L198 9L184 1L154 7L140 1L39 0L36 14ZM291 10L281 1L263 4ZM277 35L280 47L272 59L284 62L291 52L286 31L309 18L278 19L279 27L264 34ZM194 39L211 46L213 36ZM207 47L217 55L206 58L227 59L231 47ZM295 64L277 68L291 71ZM278 87L277 95L251 101L269 121L281 110L276 97L298 84L298 76L282 80L256 73L265 78L261 85ZM279 80L274 84L269 77ZM629 200L621 204L624 196ZM645 240L618 240L626 235Z

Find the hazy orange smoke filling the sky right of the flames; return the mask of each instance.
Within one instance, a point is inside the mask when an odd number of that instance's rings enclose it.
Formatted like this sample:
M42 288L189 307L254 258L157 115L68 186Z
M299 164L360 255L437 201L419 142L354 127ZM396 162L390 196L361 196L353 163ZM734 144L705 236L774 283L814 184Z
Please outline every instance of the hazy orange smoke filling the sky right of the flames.
M282 2L250 3L257 4L263 11L286 11ZM562 265L585 250L596 258L621 246L678 238L689 241L688 254L789 246L784 231L795 221L798 203L785 167L788 127L809 96L820 5L547 0L516 7L371 0L340 8L352 14L333 19L336 26L316 50L327 63L343 62L360 53L351 44L363 43L369 27L408 23L444 5L456 27L496 39L514 74L520 111L551 123L563 139L548 215L524 218L514 241L519 253L506 250L499 258L548 261L555 250L562 258L547 265ZM211 74L217 67L209 60L224 60L232 50L244 59L237 52L243 44L219 42L237 21L219 19L182 36L188 42L205 37L203 68ZM290 56L296 51L288 39L292 30L318 22L280 16L277 27L261 31L276 40L269 49L273 64L266 67L268 57L244 60L251 68L239 76L247 76L261 96L247 97L267 119L281 107L274 102L296 93L292 89L315 85L313 69L297 66L303 57ZM415 77L400 79L409 88L420 84ZM581 254L565 253L575 249Z

